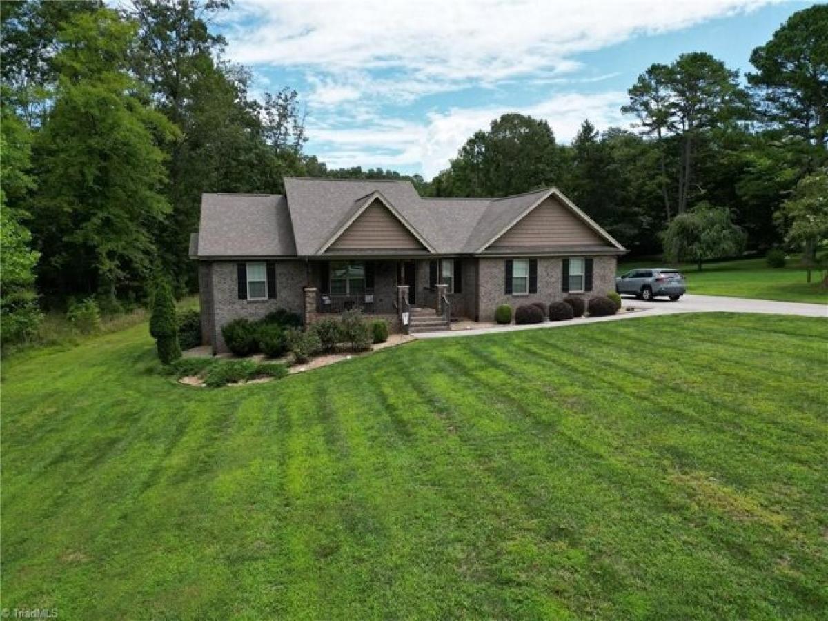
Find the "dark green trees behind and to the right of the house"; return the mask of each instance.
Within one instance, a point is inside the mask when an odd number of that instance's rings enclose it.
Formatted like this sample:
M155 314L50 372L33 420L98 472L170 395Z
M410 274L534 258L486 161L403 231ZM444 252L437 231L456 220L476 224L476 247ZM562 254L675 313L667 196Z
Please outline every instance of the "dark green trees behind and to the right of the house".
M705 52L650 65L622 108L633 130L598 132L585 120L570 144L556 142L546 120L504 114L465 142L430 190L503 196L557 185L642 254L662 251L676 218L675 229L709 229L721 220L710 218L715 209L749 247L804 243L814 262L828 237L826 205L806 200L828 196L828 6L793 14L750 62L746 84ZM794 221L808 231L792 233Z

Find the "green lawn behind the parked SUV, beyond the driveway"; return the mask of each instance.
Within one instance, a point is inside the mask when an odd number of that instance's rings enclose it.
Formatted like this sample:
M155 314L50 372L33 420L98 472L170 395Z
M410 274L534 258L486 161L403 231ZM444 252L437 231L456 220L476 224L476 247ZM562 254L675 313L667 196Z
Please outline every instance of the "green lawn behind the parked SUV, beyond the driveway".
M791 263L794 263L792 261ZM660 260L620 262L619 276L636 267L667 267ZM821 286L821 272L807 272L796 265L774 269L764 258L705 263L701 272L696 265L678 263L687 278L687 291L705 296L754 297L761 300L782 300L828 304L828 289Z

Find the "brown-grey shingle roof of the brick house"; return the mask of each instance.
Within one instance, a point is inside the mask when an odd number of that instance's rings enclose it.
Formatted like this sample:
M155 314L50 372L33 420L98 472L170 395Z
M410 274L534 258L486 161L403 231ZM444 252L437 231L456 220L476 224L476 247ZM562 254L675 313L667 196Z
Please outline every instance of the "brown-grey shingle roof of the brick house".
M285 195L205 194L198 256L315 255L374 192L435 253L477 253L523 212L556 191L535 190L502 199L438 199L422 198L410 181L298 177L285 179L285 190ZM599 232L608 239L605 249L623 252L603 229Z

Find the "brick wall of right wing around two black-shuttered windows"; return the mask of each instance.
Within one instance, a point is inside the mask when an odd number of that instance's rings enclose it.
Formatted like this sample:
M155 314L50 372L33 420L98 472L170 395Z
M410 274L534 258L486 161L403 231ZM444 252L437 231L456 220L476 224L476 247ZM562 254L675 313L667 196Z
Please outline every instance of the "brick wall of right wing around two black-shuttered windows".
M522 304L542 301L548 304L563 300L566 296L580 296L589 299L615 291L614 257L595 257L592 263L592 291L565 293L561 291L563 273L561 258L537 259L537 293L528 295L507 295L503 293L505 259L479 259L478 304L479 320L493 321L494 310L501 304L512 306L513 310Z

